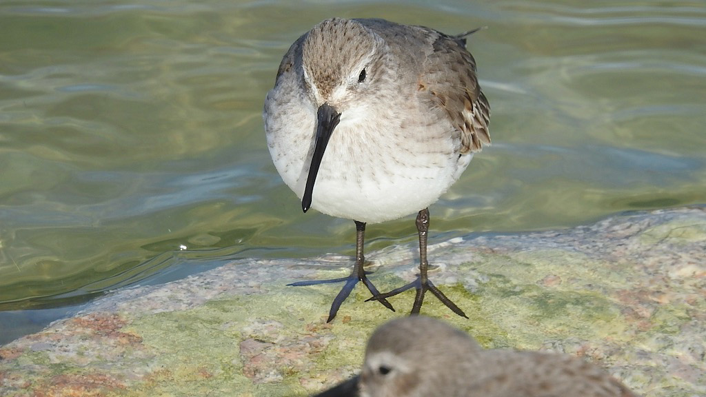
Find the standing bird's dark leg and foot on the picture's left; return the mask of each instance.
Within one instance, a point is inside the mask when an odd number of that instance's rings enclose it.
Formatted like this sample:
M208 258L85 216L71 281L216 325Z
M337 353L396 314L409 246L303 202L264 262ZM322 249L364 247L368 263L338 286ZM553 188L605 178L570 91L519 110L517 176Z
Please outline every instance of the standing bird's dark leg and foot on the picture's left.
M302 285L316 285L316 284L328 284L328 283L342 283L345 282L345 285L343 285L343 288L341 288L341 291L338 292L338 295L336 295L335 299L333 300L333 304L331 304L331 309L328 312L328 320L326 322L330 322L333 320L333 318L336 316L336 313L338 312L338 309L341 307L341 304L343 301L346 300L348 295L350 295L351 291L355 287L355 285L359 282L362 281L365 286L368 288L371 294L373 294L373 297L380 296L380 292L378 291L377 288L375 288L375 285L371 283L370 280L367 278L367 274L370 274L371 272L365 271L363 268L363 265L365 263L365 256L363 254L363 245L365 242L365 223L363 222L358 222L357 220L355 221L355 229L356 229L356 240L355 240L355 264L353 265L353 271L348 277L342 277L342 278L334 278L333 280L309 280L309 281L299 281L297 283L292 283L292 284L287 284L287 285L294 285L295 287L299 287ZM388 300L385 299L385 297L381 297L377 299L381 304L383 304L385 307L388 309L392 310L393 312L395 309L393 308L393 305L388 302Z

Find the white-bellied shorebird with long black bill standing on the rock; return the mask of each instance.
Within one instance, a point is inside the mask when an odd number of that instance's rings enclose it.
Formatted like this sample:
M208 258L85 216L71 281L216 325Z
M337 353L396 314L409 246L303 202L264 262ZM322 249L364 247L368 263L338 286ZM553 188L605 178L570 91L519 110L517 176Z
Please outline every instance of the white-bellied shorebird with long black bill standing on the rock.
M465 37L382 19L324 20L299 37L277 71L263 117L268 148L304 212L354 220L356 261L349 277L290 285L345 282L331 321L356 283L378 300L416 288L412 314L429 290L465 313L427 278L427 207L490 143L490 107ZM419 276L381 294L366 277L366 223L417 213Z

